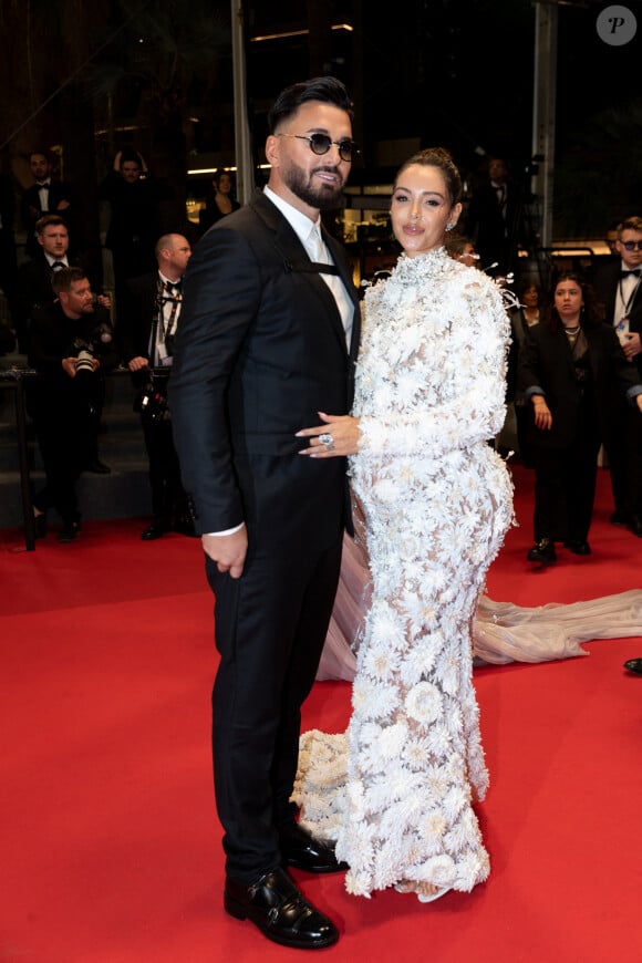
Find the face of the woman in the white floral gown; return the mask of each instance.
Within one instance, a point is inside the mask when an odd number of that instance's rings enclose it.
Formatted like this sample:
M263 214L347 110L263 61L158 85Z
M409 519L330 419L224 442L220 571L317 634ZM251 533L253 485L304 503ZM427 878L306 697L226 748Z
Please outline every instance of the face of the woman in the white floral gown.
M452 206L438 167L412 164L397 179L390 213L395 238L414 258L442 247L446 225L457 222L462 205Z

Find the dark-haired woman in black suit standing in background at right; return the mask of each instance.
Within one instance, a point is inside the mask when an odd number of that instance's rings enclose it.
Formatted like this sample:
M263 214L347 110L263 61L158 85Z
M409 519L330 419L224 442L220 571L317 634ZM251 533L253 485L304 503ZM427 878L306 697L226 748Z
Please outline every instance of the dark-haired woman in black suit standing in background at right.
M528 560L557 561L556 542L591 553L598 452L613 385L642 412L642 384L612 325L602 322L590 286L577 272L558 277L546 320L520 351L518 391L529 411L526 427L535 467L535 545Z

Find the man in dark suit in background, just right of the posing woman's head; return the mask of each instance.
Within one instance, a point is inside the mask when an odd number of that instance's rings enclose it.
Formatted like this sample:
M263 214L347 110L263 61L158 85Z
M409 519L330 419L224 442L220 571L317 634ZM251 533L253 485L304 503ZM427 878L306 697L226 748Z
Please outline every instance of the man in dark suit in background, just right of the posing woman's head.
M488 162L488 179L474 191L465 217L466 234L475 242L483 270L505 277L517 267L522 240L524 189L508 176L501 157Z

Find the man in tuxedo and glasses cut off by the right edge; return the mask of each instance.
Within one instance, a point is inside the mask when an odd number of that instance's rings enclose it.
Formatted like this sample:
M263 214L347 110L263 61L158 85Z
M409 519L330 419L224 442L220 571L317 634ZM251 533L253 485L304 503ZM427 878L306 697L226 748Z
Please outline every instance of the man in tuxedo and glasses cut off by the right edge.
M624 354L642 381L642 217L618 227L619 258L596 272L594 287L605 320L613 324ZM628 525L642 538L642 426L636 412L613 392L609 403L605 449L611 473L614 525Z

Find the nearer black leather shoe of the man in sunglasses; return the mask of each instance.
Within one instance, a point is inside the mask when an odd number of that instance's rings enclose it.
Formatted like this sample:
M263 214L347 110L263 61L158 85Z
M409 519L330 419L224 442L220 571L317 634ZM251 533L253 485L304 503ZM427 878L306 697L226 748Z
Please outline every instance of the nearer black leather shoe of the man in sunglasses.
M224 905L237 920L250 920L263 936L296 950L322 950L339 939L328 917L303 898L288 873L275 869L253 886L225 881Z

